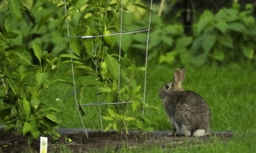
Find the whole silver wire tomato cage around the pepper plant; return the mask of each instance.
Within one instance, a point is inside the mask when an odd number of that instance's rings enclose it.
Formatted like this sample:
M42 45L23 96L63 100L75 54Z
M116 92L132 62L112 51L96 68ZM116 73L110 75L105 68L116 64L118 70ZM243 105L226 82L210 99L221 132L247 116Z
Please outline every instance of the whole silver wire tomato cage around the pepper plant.
M67 7L66 7L66 0L64 0L64 4L65 4L65 14L67 13ZM145 53L145 75L144 75L144 94L143 94L143 112L142 115L144 115L144 108L145 108L145 94L146 94L146 83L147 83L147 60L148 60L148 40L149 40L149 35L150 35L150 23L151 23L151 10L152 10L152 0L150 1L150 14L149 14L149 21L148 21L148 27L146 28L139 28L139 29L134 29L134 30L126 30L126 31L122 31L123 25L123 0L120 0L120 4L121 4L121 10L120 10L120 32L113 32L111 34L106 34L106 35L70 35L69 33L69 21L66 19L66 24L67 24L67 37L72 38L81 38L81 39L90 39L90 38L97 38L97 37L106 37L109 35L119 35L119 62L120 62L120 57L121 57L121 46L122 46L122 35L126 35L126 34L136 34L138 32L147 32L147 45L146 45L146 53ZM72 54L72 50L70 49L70 54ZM95 51L96 54L96 51ZM116 103L108 103L108 102L99 102L99 95L98 95L98 102L97 103L88 103L88 104L81 104L79 105L77 102L77 95L76 95L76 84L75 84L75 79L74 79L74 67L73 67L73 59L71 60L71 67L72 67L72 77L73 77L73 85L74 85L74 97L75 97L75 101L76 101L76 108L77 108L77 112L79 114L81 123L83 124L83 128L84 131L86 133L86 136L88 138L88 134L87 134L87 130L86 130L86 126L84 125L83 119L81 117L81 114L79 112L79 107L80 106L90 106L90 105L98 105L99 108L99 117L100 117L100 122L101 122L101 130L103 131L103 126L102 126L102 117L101 117L101 105L113 105L113 104L125 104L125 103L131 103L133 101L119 101ZM95 63L97 63L97 61L95 60ZM96 70L96 77L98 78L98 68L95 68ZM119 68L118 68L118 92L120 92L120 64L119 64Z

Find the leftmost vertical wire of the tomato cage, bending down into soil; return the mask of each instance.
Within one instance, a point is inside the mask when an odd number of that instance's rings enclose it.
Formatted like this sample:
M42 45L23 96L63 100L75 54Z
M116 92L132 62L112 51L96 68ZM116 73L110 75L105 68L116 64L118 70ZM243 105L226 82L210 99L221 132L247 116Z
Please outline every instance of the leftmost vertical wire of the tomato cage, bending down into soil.
M67 13L66 0L64 0L64 3L65 3L65 13ZM67 21L67 19L66 19L66 21ZM69 23L68 23L68 21L67 21L67 35L69 36ZM72 54L71 49L70 49L70 54ZM76 100L76 109L77 109L77 112L78 112L79 117L80 117L80 119L81 119L81 122L82 122L82 124L83 124L84 131L86 132L86 137L88 138L86 126L84 126L83 119L82 119L81 114L80 114L80 112L79 112L79 105L78 105L78 103L77 103L76 84L75 84L75 82L74 82L74 68L73 68L73 63L72 63L73 60L72 60L72 59L70 59L70 60L71 60L71 67L72 67L72 76L73 76L73 85L74 85L74 97L75 97L75 100Z

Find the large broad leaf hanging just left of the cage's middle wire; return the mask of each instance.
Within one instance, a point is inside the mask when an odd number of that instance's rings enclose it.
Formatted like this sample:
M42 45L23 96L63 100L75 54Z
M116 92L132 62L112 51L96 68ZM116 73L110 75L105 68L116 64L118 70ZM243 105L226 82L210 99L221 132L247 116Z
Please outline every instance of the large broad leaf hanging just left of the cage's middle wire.
M108 70L111 72L115 79L118 79L118 69L119 69L119 62L109 54L106 54L106 64L108 65Z

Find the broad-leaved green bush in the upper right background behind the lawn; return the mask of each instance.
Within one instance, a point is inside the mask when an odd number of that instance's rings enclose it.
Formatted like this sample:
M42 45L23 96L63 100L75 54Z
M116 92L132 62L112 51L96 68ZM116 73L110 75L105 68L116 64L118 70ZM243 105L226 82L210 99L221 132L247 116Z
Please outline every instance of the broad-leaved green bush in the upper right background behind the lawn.
M184 65L202 65L207 61L254 59L256 23L252 12L253 5L240 10L238 3L216 14L205 10L193 25L194 34L177 38L175 47L161 55L160 62L172 64L170 59L179 59Z

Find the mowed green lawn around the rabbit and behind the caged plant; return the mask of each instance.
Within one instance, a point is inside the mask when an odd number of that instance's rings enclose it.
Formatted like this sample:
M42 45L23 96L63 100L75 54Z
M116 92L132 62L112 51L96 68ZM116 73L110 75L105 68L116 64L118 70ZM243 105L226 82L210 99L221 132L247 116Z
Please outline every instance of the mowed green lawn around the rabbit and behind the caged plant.
M120 152L251 152L255 151L256 139L256 64L226 64L205 65L193 67L187 65L186 78L183 82L184 90L191 90L202 97L209 104L212 112L212 131L245 132L235 134L232 139L222 142L216 139L215 143L202 145L180 145L180 147L161 148L159 146L135 147L124 149ZM171 124L163 110L162 100L158 97L158 91L162 86L172 81L173 71L177 66L150 65L147 73L146 103L159 107L159 110L145 110L145 115L150 119L150 127L154 130L171 130ZM179 66L179 68L182 68ZM63 77L72 81L70 77ZM76 78L77 85L82 83L82 78ZM144 74L141 73L138 82L144 82ZM55 84L45 91L42 100L45 103L57 107L65 113L59 114L62 127L83 128L76 112L74 96L67 97L73 88L65 84ZM84 90L83 100L87 103L97 102L95 88ZM63 97L67 97L63 99ZM61 101L56 101L56 98ZM101 107L106 109L105 106ZM87 106L86 116L83 121L86 128L101 129L99 118L93 118L98 112L98 106ZM105 121L103 125L108 123ZM131 127L132 128L132 127ZM212 139L215 139L214 137ZM106 152L112 152L111 148Z

